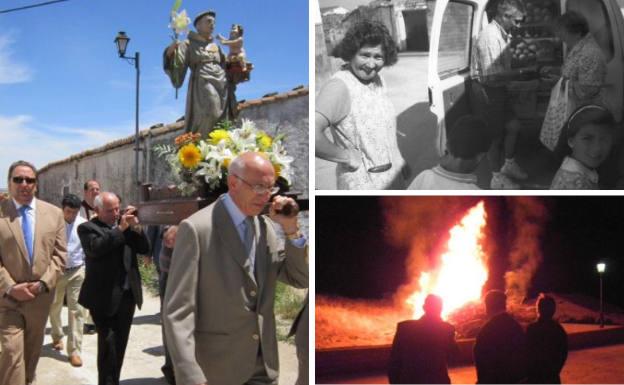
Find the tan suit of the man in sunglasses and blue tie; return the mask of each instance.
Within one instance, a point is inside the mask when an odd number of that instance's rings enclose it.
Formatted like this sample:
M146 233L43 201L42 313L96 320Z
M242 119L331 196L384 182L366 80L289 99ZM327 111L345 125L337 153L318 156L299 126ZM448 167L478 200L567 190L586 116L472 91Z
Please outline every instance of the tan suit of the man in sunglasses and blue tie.
M33 265L28 261L19 213L12 199L0 203L0 385L23 385L35 377L56 280L65 266L61 210L37 200ZM43 281L47 292L27 302L5 293L16 283Z

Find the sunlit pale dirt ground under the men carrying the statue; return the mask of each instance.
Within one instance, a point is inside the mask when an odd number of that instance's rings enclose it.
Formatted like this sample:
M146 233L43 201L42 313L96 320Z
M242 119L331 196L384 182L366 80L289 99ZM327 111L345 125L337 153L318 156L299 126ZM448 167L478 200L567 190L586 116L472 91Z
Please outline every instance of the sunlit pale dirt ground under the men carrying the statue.
M143 308L134 315L130 340L121 372L123 385L166 385L160 367L164 363L164 351L160 332L158 297L144 292ZM63 308L63 324L67 325L67 309ZM64 339L64 342L66 340ZM52 349L50 324L46 329L41 359L37 366L39 385L96 385L97 384L97 335L85 335L82 341L80 368L67 361L67 352ZM297 378L297 357L292 344L280 342L279 385L294 384Z

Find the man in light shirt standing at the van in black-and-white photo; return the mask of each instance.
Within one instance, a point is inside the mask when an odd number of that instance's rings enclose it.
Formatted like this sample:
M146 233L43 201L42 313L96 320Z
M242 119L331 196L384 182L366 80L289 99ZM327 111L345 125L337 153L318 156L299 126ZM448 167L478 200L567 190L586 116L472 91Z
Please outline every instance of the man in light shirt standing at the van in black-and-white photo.
M527 174L514 159L519 124L507 124L506 116L512 116L507 101L506 83L522 71L511 68L511 31L524 21L525 9L520 0L501 0L490 24L477 37L471 75L473 84L473 111L488 122L492 145L488 154L492 170L500 167L500 148L504 148L505 162L500 168L504 176L522 180ZM526 69L525 69L526 70ZM503 178L508 180L507 178ZM500 178L492 178L492 188L499 185Z

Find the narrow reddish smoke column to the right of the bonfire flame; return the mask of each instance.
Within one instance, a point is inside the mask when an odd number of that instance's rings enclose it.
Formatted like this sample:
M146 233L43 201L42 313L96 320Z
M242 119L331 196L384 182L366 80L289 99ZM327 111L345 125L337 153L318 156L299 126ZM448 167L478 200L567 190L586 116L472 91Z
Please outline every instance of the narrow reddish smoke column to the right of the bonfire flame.
M505 272L505 291L509 302L522 303L542 262L540 239L548 219L546 207L537 197L508 197L515 229Z

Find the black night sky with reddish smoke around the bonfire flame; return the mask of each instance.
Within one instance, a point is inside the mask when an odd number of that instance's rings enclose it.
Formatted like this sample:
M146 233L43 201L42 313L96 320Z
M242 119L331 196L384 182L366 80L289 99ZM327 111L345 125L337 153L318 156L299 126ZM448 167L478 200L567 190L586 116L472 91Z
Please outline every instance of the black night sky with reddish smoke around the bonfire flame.
M388 216L414 222L410 232L421 232L425 249L438 255L448 230L479 200L488 212L486 234L494 246L490 256L488 288L502 288L508 250L517 226L510 207L530 199L543 207L537 220L537 241L543 261L531 281L528 296L540 291L579 293L598 297L596 263L604 261L605 299L624 306L624 197L326 197L316 198L316 291L347 298L390 297L407 281L405 261L410 250L392 240L396 223ZM401 205L415 200L421 214L411 215ZM389 206L395 206L394 211ZM399 206L397 208L396 206ZM408 210L409 211L409 210ZM388 214L392 212L393 214ZM418 211L419 212L419 211ZM417 213L418 213L417 212ZM424 234L422 234L424 232ZM396 237L394 237L396 238ZM432 257L433 258L433 257Z

